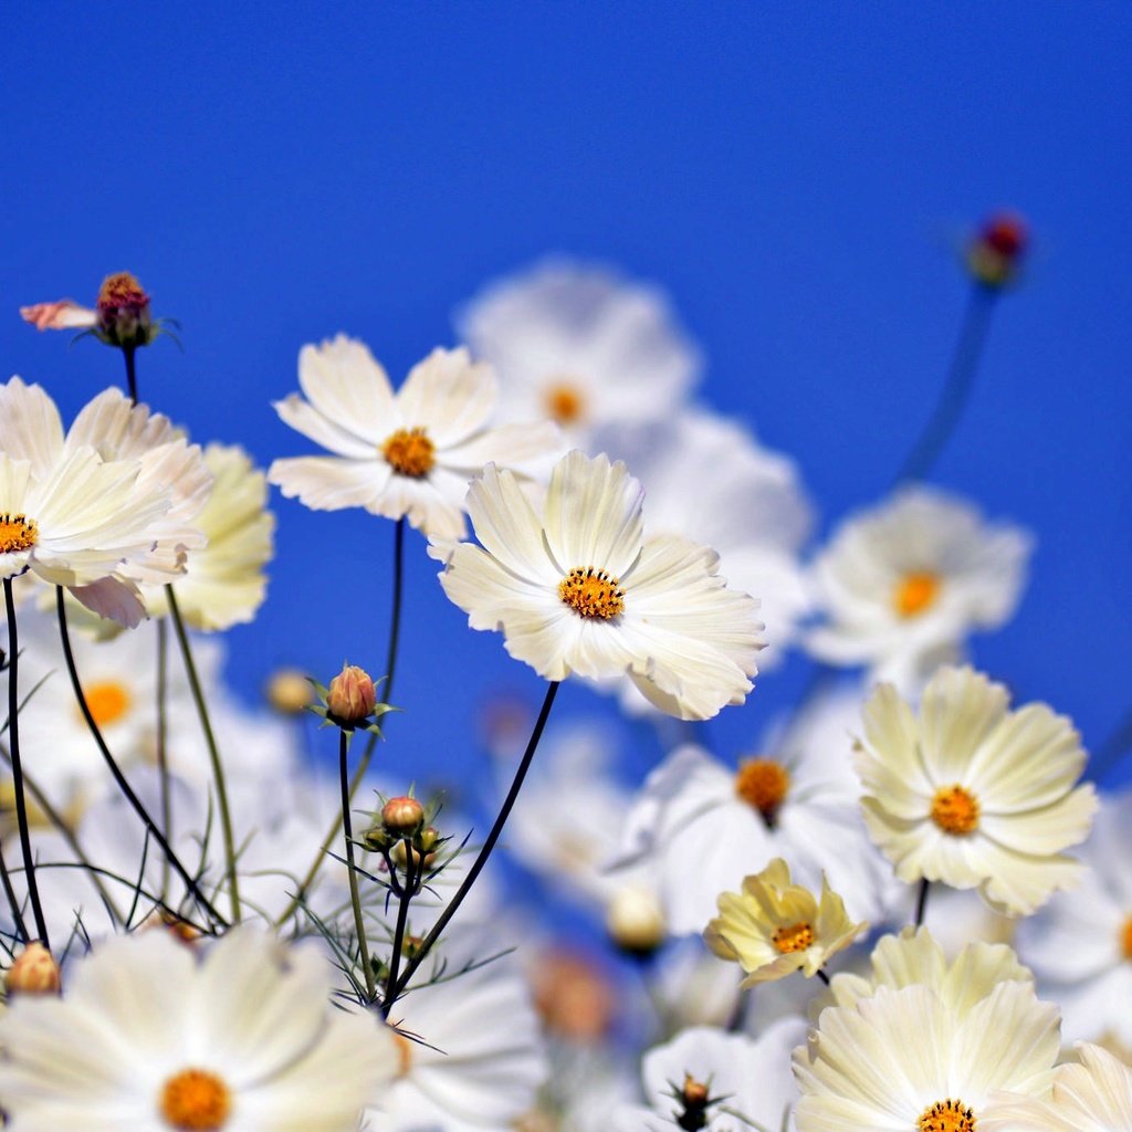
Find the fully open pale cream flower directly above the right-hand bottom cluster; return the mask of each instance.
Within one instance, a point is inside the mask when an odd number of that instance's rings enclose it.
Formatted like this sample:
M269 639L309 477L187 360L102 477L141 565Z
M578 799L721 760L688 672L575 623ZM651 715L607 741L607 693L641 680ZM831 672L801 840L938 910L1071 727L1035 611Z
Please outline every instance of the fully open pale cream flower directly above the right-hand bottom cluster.
M868 832L901 881L978 887L1019 916L1080 880L1064 850L1088 835L1097 797L1077 786L1086 754L1072 722L1009 702L972 669L942 668L917 718L882 684L855 763Z

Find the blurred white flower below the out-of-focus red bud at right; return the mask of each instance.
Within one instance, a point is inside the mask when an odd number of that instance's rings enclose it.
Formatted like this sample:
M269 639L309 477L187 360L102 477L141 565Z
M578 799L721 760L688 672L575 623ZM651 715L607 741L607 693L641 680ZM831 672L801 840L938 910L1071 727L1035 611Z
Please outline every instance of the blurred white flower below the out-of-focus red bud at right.
M962 500L906 488L849 518L814 565L825 624L809 651L833 664L867 664L911 688L958 659L974 629L997 628L1021 595L1030 554L1017 526L984 523Z

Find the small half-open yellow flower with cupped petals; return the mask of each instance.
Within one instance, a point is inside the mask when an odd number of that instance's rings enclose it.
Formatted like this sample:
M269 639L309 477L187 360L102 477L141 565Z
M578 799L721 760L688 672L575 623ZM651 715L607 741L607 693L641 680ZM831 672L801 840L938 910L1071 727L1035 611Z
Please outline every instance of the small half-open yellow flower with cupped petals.
M719 916L704 941L721 959L746 971L744 987L801 971L816 975L830 955L848 947L867 924L854 924L844 903L822 877L822 895L790 883L790 866L775 857L743 882L741 892L719 897Z

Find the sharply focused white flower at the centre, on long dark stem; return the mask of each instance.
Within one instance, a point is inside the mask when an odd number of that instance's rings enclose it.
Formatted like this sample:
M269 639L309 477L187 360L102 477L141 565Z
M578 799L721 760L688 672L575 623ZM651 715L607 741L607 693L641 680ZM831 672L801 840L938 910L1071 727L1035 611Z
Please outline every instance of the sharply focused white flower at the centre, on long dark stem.
M468 492L481 546L449 548L440 582L472 628L503 632L546 679L628 676L661 711L707 719L752 688L757 602L726 588L714 551L646 539L643 496L624 464L572 452L539 516L488 465Z

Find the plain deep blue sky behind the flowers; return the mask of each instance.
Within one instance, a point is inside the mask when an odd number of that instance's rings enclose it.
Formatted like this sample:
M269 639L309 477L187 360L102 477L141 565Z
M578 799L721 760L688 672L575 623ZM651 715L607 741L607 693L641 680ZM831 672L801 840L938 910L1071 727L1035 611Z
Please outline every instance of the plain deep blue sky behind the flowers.
M140 357L143 396L266 464L308 451L268 404L302 343L348 331L400 380L484 281L572 252L670 291L702 398L800 462L829 530L934 403L953 243L1013 206L1029 280L933 478L1036 533L1021 610L976 658L1096 747L1132 705L1130 58L1122 3L9 3L3 371L68 414L118 381L112 352L16 311L129 268L183 324L183 354ZM238 687L283 662L379 668L392 525L275 503ZM387 749L431 772L469 753L489 689L541 687L409 550L410 718ZM749 746L804 676L710 734Z

